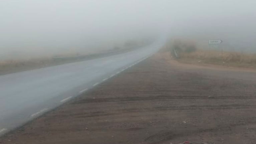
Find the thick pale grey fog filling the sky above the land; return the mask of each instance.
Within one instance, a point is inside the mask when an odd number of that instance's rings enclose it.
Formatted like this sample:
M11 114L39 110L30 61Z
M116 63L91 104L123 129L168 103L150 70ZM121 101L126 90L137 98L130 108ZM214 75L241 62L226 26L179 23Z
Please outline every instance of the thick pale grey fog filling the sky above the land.
M127 40L194 40L256 51L254 0L1 0L0 57L91 53Z

